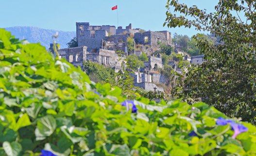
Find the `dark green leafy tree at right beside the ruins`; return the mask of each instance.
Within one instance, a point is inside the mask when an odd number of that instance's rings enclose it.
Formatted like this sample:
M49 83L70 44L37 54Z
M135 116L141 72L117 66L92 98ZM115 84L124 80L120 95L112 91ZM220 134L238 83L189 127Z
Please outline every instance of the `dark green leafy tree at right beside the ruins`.
M194 26L215 34L221 41L211 42L202 34L192 37L205 55L205 62L188 69L187 78L177 81L175 94L192 102L202 99L230 117L256 124L256 1L219 0L216 13L209 14L197 6L168 1L167 8L181 16L167 12L165 24Z

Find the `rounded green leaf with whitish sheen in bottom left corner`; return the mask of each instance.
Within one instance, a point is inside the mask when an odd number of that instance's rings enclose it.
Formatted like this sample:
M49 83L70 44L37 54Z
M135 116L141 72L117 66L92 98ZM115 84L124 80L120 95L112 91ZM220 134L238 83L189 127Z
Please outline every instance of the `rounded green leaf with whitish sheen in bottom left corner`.
M3 142L2 147L7 156L19 156L22 151L22 147L18 142Z

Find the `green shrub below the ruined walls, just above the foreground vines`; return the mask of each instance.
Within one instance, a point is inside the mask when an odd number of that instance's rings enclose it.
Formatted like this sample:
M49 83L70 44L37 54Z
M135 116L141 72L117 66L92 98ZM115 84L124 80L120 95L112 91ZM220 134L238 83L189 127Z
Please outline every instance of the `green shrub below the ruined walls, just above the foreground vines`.
M94 82L115 84L115 70L96 62L84 62L83 71Z

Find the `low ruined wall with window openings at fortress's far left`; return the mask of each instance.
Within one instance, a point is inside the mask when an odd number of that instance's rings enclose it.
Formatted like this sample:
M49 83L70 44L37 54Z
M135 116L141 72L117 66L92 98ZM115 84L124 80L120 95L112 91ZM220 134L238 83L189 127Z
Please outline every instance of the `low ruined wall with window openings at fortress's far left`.
M68 62L75 66L83 66L84 60L86 60L87 47L71 47L65 49L59 49L59 57L65 58Z

